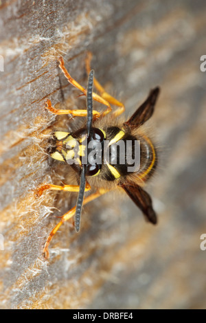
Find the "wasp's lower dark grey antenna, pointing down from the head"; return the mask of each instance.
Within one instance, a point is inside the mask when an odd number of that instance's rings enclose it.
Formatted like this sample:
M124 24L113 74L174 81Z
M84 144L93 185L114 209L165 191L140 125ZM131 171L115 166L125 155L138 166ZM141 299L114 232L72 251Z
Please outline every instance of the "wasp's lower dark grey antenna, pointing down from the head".
M75 230L76 232L80 231L80 218L82 213L82 203L84 200L84 190L86 186L86 177L85 177L85 167L86 165L82 165L82 172L80 177L80 190L78 194L78 200L76 203L76 214L75 214Z

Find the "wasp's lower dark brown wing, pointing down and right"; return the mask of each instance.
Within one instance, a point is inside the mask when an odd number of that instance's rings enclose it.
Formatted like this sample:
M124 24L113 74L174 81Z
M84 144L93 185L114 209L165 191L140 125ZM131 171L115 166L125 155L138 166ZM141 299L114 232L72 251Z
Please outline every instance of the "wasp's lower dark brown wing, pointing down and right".
M133 200L133 202L140 208L140 210L146 216L146 219L153 224L157 223L157 215L152 208L152 199L150 195L141 188L141 186L135 183L126 182L124 184L120 184L126 194Z

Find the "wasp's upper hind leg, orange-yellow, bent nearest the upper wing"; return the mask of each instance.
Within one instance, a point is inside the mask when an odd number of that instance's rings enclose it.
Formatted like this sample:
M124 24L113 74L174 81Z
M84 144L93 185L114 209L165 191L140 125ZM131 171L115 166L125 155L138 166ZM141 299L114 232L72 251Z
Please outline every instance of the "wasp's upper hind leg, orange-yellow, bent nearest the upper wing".
M92 58L92 54L91 52L87 53L87 58L85 59L85 65L86 65L86 69L87 69L87 74L89 74L89 71L91 71L91 58ZM93 79L93 84L95 85L95 88L100 92L100 96L106 100L108 103L110 104L114 104L117 109L113 112L113 115L115 117L117 117L118 115L122 114L125 110L124 104L122 102L119 102L117 99L113 98L113 96L111 96L110 94L108 94L104 87L102 87L102 85L100 85L100 83L98 82L98 80L96 78ZM102 116L104 116L106 113L105 111L102 113Z

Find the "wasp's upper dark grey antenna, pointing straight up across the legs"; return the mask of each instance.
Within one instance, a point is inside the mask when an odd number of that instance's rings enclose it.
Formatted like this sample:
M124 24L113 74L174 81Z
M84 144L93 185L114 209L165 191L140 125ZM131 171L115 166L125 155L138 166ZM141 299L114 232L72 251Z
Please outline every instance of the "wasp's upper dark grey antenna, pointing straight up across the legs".
M87 136L91 137L91 124L93 120L93 76L94 70L92 69L89 73L87 83Z

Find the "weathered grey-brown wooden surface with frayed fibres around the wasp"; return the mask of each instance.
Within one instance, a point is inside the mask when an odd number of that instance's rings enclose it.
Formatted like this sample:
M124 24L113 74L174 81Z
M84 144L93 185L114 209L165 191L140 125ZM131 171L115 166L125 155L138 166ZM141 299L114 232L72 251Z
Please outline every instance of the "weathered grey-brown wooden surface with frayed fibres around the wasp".
M0 2L1 309L205 308L205 10L190 0ZM56 58L86 85L88 49L126 116L161 86L149 122L160 163L148 186L159 224L145 223L124 195L107 194L84 208L80 234L62 225L47 261L47 235L76 194L36 199L34 190L69 183L68 166L47 155L49 135L82 120L55 118L44 101L84 107Z

